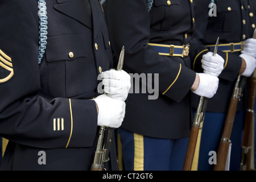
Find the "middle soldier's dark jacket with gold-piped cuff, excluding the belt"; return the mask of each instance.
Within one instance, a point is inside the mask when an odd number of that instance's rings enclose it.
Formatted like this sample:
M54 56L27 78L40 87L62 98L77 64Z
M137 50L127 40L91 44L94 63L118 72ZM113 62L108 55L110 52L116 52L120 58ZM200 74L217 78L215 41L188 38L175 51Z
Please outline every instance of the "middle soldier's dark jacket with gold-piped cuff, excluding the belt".
M191 70L191 59L159 55L148 43L176 46L190 43L195 24L193 2L155 0L148 13L147 0L108 0L105 17L116 57L125 46L123 69L132 74L159 76L157 99L149 100L149 92L130 90L122 127L156 138L188 137L190 89L196 76Z

